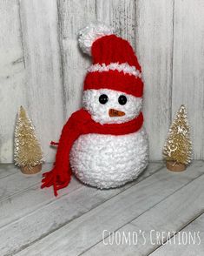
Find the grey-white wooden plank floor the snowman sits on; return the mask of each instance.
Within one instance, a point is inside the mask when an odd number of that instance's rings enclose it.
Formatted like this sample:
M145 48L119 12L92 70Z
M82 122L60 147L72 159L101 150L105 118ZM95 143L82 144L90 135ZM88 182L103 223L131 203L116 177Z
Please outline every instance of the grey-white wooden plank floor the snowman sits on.
M0 174L1 255L175 255L177 249L179 255L203 253L203 161L181 173L151 163L135 182L112 190L97 190L73 178L57 199L52 189L40 189L41 173L28 177L13 165L0 165ZM104 229L147 234L152 229L188 229L201 232L201 245L154 245L147 236L145 245L138 239L136 246L105 246Z

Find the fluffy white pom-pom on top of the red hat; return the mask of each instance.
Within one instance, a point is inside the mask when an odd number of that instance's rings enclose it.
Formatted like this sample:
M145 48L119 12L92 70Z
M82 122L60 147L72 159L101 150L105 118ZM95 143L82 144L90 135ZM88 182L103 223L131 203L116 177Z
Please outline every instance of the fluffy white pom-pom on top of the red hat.
M114 29L100 22L90 23L78 34L79 46L84 53L91 55L91 46L95 40L114 34Z

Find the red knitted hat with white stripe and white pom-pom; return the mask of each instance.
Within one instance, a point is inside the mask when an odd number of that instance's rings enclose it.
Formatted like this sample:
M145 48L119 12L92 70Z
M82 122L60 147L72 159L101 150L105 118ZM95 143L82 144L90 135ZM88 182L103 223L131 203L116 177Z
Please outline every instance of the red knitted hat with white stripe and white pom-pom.
M89 24L79 33L82 51L93 58L84 80L84 91L111 89L142 97L141 66L127 40L104 24Z

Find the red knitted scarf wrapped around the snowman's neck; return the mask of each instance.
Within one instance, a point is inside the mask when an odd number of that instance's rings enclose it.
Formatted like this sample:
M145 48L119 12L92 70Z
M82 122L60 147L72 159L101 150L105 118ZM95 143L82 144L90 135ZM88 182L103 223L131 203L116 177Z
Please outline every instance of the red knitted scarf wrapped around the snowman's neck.
M125 135L140 130L142 124L142 113L126 123L101 125L91 118L88 111L83 109L76 111L71 115L66 125L63 126L63 131L57 144L56 162L50 172L43 173L43 185L41 187L53 185L56 196L57 190L69 185L71 179L69 152L80 135L88 133ZM55 145L55 143L51 144Z

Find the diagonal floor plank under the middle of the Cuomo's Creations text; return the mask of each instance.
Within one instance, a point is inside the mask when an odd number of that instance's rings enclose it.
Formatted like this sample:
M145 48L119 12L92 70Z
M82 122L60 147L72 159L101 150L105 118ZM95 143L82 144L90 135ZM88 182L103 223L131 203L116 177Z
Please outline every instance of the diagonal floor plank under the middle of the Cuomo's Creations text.
M196 172L204 174L203 167L203 162L195 162L188 172L194 172L196 169ZM161 246L161 242L165 243L168 232L180 231L191 219L194 219L194 216L204 210L203 185L204 175L201 175L200 178L184 185L167 199L162 200L158 205L119 229L117 232L121 237L124 233L128 238L128 232L130 233L128 243L116 244L114 235L110 235L83 255L92 256L96 252L101 252L100 255L149 255ZM140 231L143 232L143 235ZM107 236L109 232L111 230L108 229L104 234ZM137 240L136 235L133 238L134 232L137 233ZM160 234L158 238L156 232ZM165 249L161 252L163 253L161 255L168 255ZM174 253L173 255L181 254Z

